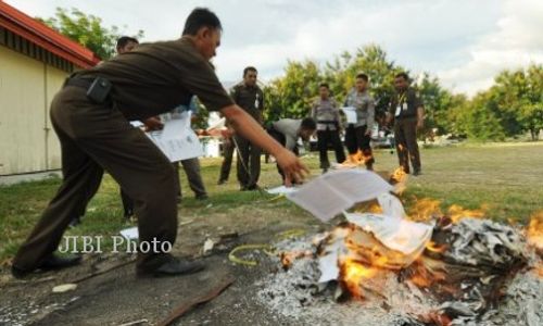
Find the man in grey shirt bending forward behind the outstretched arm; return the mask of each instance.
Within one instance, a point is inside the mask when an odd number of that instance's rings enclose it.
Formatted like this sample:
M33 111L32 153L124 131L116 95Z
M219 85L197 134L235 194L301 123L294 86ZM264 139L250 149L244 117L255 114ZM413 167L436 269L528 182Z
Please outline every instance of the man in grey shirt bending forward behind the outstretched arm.
M311 136L315 134L317 125L311 117L301 118L281 118L273 123L267 131L280 145L285 146L289 151L298 155L298 138L308 141ZM277 171L281 175L283 184L286 183L286 174L280 164L277 164ZM288 186L288 185L287 185Z

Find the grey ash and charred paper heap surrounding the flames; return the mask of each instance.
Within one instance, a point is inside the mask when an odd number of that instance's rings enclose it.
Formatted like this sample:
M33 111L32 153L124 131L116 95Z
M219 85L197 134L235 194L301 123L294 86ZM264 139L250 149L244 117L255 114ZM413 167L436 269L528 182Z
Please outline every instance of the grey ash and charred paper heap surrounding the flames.
M509 226L467 220L435 231L432 240L454 243L441 255L451 268L449 283L460 290L449 298L389 269L363 283L363 299L351 298L337 281L317 284L320 271L313 238L276 243L277 252L311 254L257 284L257 301L293 325L543 325L543 278L534 268L541 266L540 258ZM279 256L272 263L281 266Z

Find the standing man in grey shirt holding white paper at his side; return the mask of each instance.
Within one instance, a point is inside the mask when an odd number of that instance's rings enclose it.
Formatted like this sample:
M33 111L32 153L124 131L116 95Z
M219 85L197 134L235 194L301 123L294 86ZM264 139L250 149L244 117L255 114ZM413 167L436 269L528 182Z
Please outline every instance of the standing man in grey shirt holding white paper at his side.
M369 141L375 124L375 101L368 92L368 82L366 74L356 75L355 87L346 96L345 106L355 109L356 122L345 128L345 146L350 160L362 155L366 168L372 170L375 159Z

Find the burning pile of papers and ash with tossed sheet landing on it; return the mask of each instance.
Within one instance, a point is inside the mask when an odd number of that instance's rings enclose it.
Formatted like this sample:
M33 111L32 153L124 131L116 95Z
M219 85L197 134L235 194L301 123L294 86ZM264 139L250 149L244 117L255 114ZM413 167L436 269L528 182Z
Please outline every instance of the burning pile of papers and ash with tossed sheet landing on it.
M342 212L345 222L317 235L313 250L304 246L303 255L289 254L299 252L292 248L283 251L281 256L290 258L288 264L281 261L290 280L283 279L277 287L280 291L275 291L276 280L270 279L265 290L266 296L280 298L274 309L292 303L285 298L292 296L302 298L300 303L307 310L318 301L314 298L331 290L336 300L366 300L353 324L500 325L498 321L507 319L503 314L515 314L508 318L527 325L543 323L541 260L518 228L458 206L439 218L422 218L418 216L422 210L417 211L415 220L424 223L413 222L390 193L392 189L371 172L348 170L326 174L287 195L323 221ZM345 212L368 200L376 201L367 205L368 212ZM528 231L535 239L541 236L536 224L532 222ZM539 240L530 243L536 248L533 243ZM513 299L517 306L519 302L529 305L515 311L514 304L504 303L504 296L517 296ZM330 317L334 314L329 310L338 310L325 301L318 304L310 310L312 314L326 306L323 316ZM349 314L343 311L337 322L349 325L341 319Z

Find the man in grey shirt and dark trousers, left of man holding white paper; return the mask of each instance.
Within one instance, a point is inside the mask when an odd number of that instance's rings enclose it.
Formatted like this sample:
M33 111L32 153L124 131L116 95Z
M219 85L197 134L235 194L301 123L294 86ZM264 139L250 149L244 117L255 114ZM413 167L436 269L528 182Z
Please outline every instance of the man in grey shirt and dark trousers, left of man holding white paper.
M320 168L323 173L330 167L328 161L328 143L332 145L336 152L336 162L345 161L345 152L340 139L341 118L338 103L330 98L330 87L321 83L318 87L319 98L313 103L311 116L317 122L317 145Z

